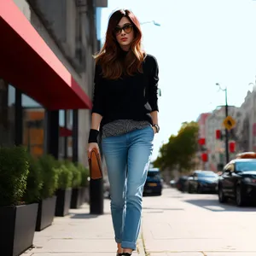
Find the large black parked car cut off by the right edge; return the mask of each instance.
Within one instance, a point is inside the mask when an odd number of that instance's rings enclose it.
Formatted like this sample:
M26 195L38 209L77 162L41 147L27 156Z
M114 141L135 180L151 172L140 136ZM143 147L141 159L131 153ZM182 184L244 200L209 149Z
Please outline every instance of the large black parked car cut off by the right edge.
M218 181L218 201L229 198L241 207L249 201L256 201L256 160L236 159L224 166Z

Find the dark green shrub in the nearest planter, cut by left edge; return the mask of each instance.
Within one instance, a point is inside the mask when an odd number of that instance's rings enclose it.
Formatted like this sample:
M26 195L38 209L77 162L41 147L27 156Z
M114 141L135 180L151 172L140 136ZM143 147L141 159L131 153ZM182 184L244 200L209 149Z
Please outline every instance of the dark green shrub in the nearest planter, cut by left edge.
M26 191L28 158L23 147L0 147L0 207L18 205Z

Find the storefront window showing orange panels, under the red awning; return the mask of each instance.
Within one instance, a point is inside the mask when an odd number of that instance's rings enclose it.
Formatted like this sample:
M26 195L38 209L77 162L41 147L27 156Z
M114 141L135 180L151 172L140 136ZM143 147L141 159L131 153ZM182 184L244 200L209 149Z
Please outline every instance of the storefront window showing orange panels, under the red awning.
M30 154L40 156L44 154L44 108L22 95L23 109L23 144Z

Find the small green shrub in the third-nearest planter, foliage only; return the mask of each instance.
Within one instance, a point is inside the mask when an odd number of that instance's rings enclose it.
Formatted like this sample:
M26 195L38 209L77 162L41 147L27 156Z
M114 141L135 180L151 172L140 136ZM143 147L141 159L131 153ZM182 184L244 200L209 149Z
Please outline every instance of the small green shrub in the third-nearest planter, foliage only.
M73 172L71 172L64 161L59 162L59 166L56 166L55 171L58 173L58 189L68 189L72 187Z

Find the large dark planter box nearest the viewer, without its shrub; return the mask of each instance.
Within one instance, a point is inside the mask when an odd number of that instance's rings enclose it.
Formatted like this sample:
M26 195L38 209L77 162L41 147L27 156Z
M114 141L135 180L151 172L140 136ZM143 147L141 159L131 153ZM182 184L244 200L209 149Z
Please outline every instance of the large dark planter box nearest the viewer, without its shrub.
M18 256L32 247L38 204L0 207L1 255Z

